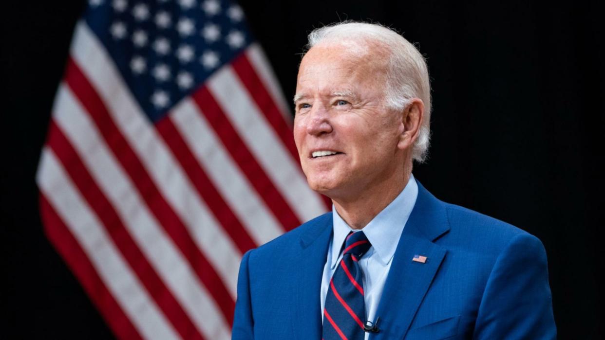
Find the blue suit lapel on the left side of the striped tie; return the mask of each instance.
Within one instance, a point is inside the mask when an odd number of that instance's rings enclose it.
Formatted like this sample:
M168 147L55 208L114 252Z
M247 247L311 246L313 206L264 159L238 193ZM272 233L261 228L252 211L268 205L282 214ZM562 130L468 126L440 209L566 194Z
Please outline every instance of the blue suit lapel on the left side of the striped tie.
M332 238L332 213L324 214L301 235L299 257L293 263L292 289L296 306L292 326L296 339L321 339L321 278Z

